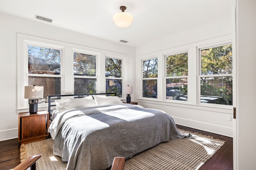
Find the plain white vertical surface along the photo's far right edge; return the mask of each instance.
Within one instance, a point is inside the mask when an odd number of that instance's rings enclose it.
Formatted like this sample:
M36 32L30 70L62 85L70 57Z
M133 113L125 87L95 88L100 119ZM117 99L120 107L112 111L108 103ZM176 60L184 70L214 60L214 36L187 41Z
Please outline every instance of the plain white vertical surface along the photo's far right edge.
M256 153L256 1L236 0L237 6L237 161L239 170L255 169Z

